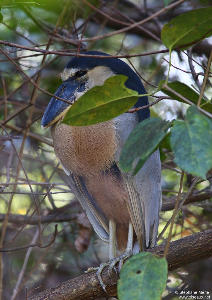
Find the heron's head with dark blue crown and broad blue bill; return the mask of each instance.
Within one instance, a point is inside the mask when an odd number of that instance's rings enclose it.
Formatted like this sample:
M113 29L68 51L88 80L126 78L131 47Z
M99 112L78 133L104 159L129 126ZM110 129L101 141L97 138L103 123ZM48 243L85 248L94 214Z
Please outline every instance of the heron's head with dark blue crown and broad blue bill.
M128 88L136 90L140 94L145 93L139 77L124 61L118 58L98 58L97 55L110 56L103 52L87 51L84 54L95 55L95 57L72 58L61 73L63 83L54 94L69 103L52 97L43 114L41 128L44 129L56 123L83 93L94 86L103 85L107 78L116 74L128 76L125 82ZM148 103L147 97L142 97L142 99L142 105ZM142 113L145 113L145 110L142 110Z

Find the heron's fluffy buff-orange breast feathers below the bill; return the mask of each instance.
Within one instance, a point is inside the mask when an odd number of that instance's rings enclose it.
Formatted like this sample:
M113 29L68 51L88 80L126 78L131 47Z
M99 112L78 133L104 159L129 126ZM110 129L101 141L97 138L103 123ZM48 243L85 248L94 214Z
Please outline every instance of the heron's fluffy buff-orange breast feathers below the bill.
M90 126L52 126L55 154L71 172L86 177L109 170L117 147L113 121Z

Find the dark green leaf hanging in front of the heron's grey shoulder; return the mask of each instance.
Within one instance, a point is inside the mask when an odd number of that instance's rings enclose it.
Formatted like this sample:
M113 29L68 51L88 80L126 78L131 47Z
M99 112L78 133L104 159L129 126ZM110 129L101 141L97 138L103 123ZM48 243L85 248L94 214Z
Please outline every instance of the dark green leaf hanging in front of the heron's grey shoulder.
M121 168L125 172L132 171L133 162L139 157L140 160L134 170L134 174L137 173L158 147L169 127L169 121L157 117L145 119L136 125L121 151L119 160Z

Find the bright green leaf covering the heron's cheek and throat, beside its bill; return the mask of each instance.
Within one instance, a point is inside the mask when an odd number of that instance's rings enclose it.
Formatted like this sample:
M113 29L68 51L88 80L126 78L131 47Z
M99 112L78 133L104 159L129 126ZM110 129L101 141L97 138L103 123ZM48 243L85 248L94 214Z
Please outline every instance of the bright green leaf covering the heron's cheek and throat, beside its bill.
M87 126L115 118L129 110L138 100L138 92L126 88L127 76L108 78L82 95L68 110L63 123Z

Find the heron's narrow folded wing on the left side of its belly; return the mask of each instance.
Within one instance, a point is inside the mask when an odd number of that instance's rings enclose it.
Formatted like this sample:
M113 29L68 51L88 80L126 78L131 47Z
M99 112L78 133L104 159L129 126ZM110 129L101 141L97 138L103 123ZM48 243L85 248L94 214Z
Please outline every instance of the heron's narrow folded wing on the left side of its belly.
M62 166L63 167L63 166ZM67 170L64 169L67 173ZM83 209L86 211L88 219L90 220L95 232L99 237L105 241L109 242L109 223L103 212L97 207L95 201L89 195L87 188L84 184L83 178L76 176L72 173L67 173L70 186L75 193L77 199L82 205Z

